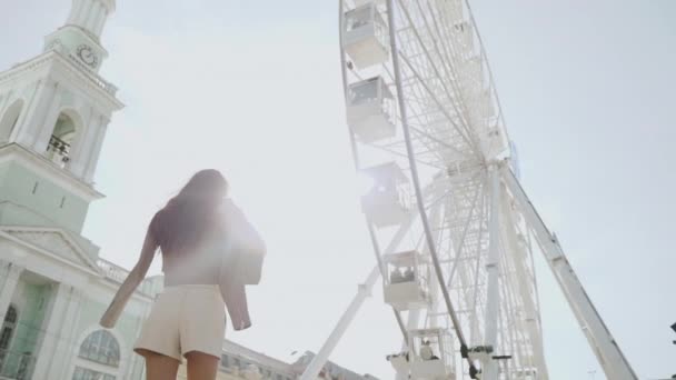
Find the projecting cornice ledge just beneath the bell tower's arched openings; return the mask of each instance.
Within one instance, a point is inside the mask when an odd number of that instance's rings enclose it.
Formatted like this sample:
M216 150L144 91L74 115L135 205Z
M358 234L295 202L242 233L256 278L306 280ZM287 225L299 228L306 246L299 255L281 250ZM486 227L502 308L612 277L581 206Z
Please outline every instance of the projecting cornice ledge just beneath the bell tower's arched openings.
M31 170L54 181L58 186L80 196L87 202L102 199L105 196L98 192L91 184L83 182L71 172L61 169L47 158L22 147L17 142L0 146L0 163L17 161L27 164Z

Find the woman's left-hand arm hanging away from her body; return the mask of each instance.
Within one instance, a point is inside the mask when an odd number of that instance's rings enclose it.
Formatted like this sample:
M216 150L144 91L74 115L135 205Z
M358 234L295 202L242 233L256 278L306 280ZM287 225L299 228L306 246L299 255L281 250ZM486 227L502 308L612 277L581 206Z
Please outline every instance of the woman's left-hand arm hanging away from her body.
M139 261L133 267L131 272L129 272L129 276L127 276L127 279L125 282L122 282L122 286L120 286L117 294L115 294L112 302L110 302L108 310L106 310L103 317L101 317L100 323L102 327L107 329L115 327L118 318L125 309L125 306L127 304L127 301L131 294L133 294L136 288L146 278L146 273L148 272L148 268L150 268L150 263L152 263L157 248L158 243L152 236L152 230L149 228L148 232L146 233L146 240L143 241L143 248L141 249Z

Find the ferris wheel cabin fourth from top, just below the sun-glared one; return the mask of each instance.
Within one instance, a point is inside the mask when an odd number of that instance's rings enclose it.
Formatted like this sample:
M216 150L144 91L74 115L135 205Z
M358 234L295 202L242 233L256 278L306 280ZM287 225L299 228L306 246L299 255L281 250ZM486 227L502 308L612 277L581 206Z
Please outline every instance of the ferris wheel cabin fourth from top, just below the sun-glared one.
M398 311L429 307L429 263L418 251L386 254L382 258L387 277L384 279L385 302Z

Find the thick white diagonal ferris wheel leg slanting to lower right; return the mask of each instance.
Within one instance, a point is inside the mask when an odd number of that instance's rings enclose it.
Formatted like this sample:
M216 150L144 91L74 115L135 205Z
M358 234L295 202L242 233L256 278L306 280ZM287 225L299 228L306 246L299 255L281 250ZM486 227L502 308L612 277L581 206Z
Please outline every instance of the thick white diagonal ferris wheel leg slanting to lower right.
M637 380L638 378L632 366L617 346L615 338L613 338L613 334L587 296L581 282L575 274L556 236L549 232L509 168L505 166L501 174L520 212L524 214L526 223L533 230L540 250L559 287L564 291L566 300L587 337L592 350L596 354L606 377L613 380Z

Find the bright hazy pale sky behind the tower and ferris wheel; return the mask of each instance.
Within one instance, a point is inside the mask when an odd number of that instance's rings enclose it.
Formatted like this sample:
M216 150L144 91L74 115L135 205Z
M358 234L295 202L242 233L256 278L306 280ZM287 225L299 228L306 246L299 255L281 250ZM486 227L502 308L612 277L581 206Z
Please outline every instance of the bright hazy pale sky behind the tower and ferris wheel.
M676 372L673 111L676 2L473 0L524 187L642 379ZM68 0L1 0L0 68L40 52ZM130 268L152 213L217 168L262 231L255 327L228 338L282 360L317 351L374 266L349 153L337 1L118 0L102 76L127 108L97 174L86 237ZM153 264L159 272L159 260ZM553 379L603 379L539 271ZM334 361L382 379L399 347L367 301Z

